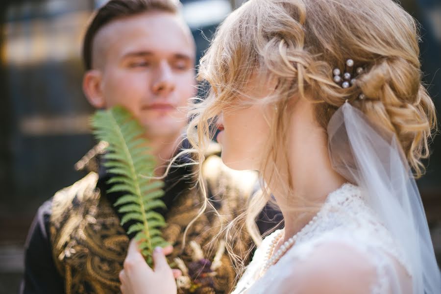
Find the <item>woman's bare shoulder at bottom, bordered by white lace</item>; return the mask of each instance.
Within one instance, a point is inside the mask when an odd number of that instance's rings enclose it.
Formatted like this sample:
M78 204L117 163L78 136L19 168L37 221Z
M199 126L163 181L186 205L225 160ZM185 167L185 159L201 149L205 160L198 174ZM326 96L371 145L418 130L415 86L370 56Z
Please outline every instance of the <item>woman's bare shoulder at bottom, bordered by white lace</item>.
M380 248L371 250L337 240L322 242L308 258L297 260L293 270L282 270L287 272L283 283L302 294L393 293L391 285L410 289L410 277L400 263Z

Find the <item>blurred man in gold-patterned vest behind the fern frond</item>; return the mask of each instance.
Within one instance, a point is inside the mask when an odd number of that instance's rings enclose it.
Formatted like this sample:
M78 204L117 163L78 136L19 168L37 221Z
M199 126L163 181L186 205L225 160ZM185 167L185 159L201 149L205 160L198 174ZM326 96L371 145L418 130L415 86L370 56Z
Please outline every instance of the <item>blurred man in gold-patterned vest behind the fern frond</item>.
M177 5L173 0L111 0L95 14L83 46L87 99L98 109L123 105L140 121L159 174L174 154L188 147L179 140L187 123L183 107L196 93L195 44ZM106 194L111 175L100 165L102 149L94 147L77 164L92 172L40 207L26 242L22 293L119 292L118 274L132 236L113 207L120 195ZM218 151L214 146L207 153L203 177L221 215L234 217L245 208L256 175L230 171L214 155ZM185 156L178 159L189 161ZM186 246L181 244L202 204L194 170L172 168L164 190L168 210L162 212L167 222L163 235L174 246L170 260L179 257L184 264L178 266L187 268L190 277L181 279L180 293L228 293L236 273L222 253L224 245L206 246L220 227L218 216L203 214L190 227ZM220 201L223 197L228 200ZM248 246L238 242L235 247Z

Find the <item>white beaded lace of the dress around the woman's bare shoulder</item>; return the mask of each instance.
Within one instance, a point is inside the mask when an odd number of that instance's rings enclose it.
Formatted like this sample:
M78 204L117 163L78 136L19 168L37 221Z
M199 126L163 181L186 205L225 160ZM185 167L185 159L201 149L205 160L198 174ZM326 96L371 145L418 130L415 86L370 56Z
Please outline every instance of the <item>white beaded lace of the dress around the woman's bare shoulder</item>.
M263 240L232 294L275 293L267 287L277 284L281 272L286 274L289 271L284 266L289 263L292 268L296 261L307 259L318 245L330 242L349 245L368 257L376 271L375 282L369 291L371 294L390 293L387 291L390 285L385 271L391 263L387 260L392 258L409 275L401 248L368 207L360 188L351 184L344 184L329 194L317 218L297 234L295 244L262 275L262 268L268 260L266 253L280 233L277 230Z

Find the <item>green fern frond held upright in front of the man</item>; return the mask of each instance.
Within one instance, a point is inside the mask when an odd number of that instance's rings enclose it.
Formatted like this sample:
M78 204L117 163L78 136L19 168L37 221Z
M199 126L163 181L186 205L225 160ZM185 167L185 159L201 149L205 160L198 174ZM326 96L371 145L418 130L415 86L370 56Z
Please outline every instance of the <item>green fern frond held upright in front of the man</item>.
M136 233L135 240L151 266L153 249L168 244L160 231L166 225L164 217L153 211L166 208L161 200L164 183L143 177L153 175L155 167L155 159L148 153L148 142L142 137L144 129L122 107L98 110L92 126L96 138L109 143L104 154L104 167L114 176L107 181L112 184L107 193L125 193L114 204L123 213L121 225L135 221L127 234Z

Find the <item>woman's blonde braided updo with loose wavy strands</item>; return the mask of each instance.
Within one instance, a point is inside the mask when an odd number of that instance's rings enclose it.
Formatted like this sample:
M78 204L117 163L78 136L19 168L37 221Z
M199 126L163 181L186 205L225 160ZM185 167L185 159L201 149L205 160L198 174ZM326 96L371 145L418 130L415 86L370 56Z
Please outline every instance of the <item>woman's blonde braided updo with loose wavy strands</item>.
M261 99L278 111L269 122L272 138L262 155L273 176L276 163L288 158L287 123L292 101L301 97L315 103L319 125L347 99L368 119L394 132L407 160L419 177L421 158L428 157L428 140L436 126L435 108L422 85L418 33L415 20L392 0L250 0L234 11L216 32L201 59L198 78L211 89L191 112L189 140L203 149L213 138L212 123L227 109L246 107L250 77L276 85L272 95ZM365 67L353 87L343 89L333 81L334 68L347 59ZM268 83L262 82L266 85ZM358 96L363 93L366 98ZM291 183L285 190L292 191ZM247 228L259 243L254 220L270 199L253 197L246 217ZM227 227L227 236L232 226ZM229 244L229 242L226 242ZM233 248L229 248L230 250Z

